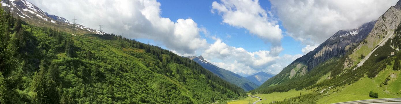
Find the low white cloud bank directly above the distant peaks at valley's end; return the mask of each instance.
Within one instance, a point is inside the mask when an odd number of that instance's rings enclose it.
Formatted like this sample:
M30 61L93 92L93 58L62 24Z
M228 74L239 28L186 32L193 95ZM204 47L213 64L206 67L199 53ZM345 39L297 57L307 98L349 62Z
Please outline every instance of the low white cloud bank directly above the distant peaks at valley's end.
M279 73L286 65L290 64L301 55L283 55L281 57L271 55L271 51L248 52L239 47L230 47L220 39L209 46L202 56L207 60L222 60L212 62L218 67L247 76L259 71ZM275 53L273 53L275 54Z

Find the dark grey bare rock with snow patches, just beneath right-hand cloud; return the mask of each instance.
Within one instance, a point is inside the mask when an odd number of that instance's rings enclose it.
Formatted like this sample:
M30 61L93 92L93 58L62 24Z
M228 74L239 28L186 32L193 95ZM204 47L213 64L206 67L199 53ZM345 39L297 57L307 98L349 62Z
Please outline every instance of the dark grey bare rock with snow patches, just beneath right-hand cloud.
M356 29L340 30L323 42L319 47L296 61L307 65L308 71L310 71L310 69L313 69L316 65L326 61L327 59L339 55L345 55L348 49L358 44L360 41L365 39L369 33L371 33L375 23L376 21L372 21L365 23Z

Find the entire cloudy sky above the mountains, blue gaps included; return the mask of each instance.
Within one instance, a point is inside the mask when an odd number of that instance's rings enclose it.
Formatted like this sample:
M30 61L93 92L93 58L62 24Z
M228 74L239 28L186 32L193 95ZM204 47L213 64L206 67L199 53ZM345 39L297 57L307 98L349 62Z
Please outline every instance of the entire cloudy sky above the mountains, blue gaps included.
M49 14L202 55L242 76L279 73L334 33L377 20L398 0L28 0Z

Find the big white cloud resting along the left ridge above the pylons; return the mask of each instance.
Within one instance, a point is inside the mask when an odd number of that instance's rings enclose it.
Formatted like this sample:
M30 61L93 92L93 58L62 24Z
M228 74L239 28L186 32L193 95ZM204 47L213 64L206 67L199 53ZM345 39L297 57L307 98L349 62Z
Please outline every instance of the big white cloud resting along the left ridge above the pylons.
M196 50L207 47L192 19L176 22L160 16L160 3L156 0L32 0L44 11L65 18L78 18L78 23L96 28L100 23L107 33L127 38L146 38L162 42L168 49L182 54L195 55ZM188 44L190 43L190 44Z

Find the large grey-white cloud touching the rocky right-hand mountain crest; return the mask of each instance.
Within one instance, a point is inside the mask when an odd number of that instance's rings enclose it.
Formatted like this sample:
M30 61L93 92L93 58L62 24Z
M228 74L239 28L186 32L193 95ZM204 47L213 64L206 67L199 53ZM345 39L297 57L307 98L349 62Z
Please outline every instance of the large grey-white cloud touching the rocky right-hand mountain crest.
M398 0L270 0L287 34L309 51L342 29L377 20Z

